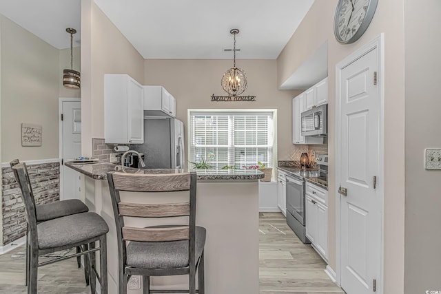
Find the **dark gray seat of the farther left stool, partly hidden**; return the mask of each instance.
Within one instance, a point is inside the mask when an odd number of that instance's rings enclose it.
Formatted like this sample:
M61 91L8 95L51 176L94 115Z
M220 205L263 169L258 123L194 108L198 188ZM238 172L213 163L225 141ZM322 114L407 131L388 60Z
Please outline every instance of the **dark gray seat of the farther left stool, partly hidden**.
M35 206L37 222L45 222L62 216L88 212L89 208L81 200L70 199Z

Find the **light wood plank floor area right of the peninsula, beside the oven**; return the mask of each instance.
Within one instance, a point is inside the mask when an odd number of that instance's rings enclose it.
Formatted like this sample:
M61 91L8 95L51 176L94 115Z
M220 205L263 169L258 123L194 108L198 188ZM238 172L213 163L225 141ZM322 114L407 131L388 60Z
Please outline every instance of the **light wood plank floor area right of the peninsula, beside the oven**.
M325 273L326 263L288 227L282 213L259 216L260 294L345 293Z

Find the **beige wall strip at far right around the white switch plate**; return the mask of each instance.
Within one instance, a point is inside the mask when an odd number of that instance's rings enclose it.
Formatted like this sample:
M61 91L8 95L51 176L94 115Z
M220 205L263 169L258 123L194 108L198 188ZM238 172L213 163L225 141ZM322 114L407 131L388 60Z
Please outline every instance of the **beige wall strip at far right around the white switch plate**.
M441 148L441 3L406 0L406 220L404 293L441 289L441 171L424 169L425 148Z

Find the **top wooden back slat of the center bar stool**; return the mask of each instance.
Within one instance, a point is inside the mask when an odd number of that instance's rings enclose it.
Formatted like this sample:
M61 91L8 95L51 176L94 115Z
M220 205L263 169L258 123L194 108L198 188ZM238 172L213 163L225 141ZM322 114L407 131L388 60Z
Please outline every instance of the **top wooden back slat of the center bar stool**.
M168 192L190 189L188 174L113 174L114 188L119 191Z

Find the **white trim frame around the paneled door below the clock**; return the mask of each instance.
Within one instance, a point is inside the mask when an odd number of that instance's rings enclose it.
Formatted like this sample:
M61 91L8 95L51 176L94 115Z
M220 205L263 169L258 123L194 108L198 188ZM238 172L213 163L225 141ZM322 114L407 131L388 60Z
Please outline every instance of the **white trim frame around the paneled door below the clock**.
M341 89L340 89L340 81L341 81L341 72L342 70L353 63L354 61L360 59L362 56L366 55L367 53L371 52L372 50L375 50L378 48L378 69L379 72L377 74L377 85L380 87L379 93L380 93L380 109L379 109L379 126L378 126L378 160L379 160L379 175L378 175L378 195L380 196L380 213L381 213L381 220L380 220L380 227L381 227L381 269L380 269L380 281L377 281L377 293L382 294L383 293L383 286L384 286L384 34L380 34L375 39L367 43L366 45L363 45L362 48L358 49L356 52L353 52L351 55L347 56L345 59L340 61L336 64L336 167L334 172L336 173L336 182L334 183L335 187L335 195L336 195L336 282L340 286L341 282L341 264L340 264L340 194L338 193L338 187L340 187L341 182L341 173L340 173L340 163L341 158L341 145L339 142L341 142L341 134L340 134L340 127L341 127L341 117L340 117L340 95L341 95ZM352 293L349 293L352 294Z

